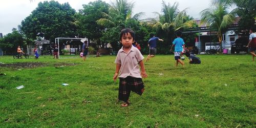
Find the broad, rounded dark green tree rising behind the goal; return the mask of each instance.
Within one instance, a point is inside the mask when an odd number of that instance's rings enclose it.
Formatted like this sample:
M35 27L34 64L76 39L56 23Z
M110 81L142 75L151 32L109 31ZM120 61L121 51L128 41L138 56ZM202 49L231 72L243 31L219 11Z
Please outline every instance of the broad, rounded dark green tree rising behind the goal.
M75 9L68 3L59 4L55 1L38 3L38 7L26 17L19 29L28 38L36 39L37 33L44 33L46 39L54 41L56 37L75 37Z

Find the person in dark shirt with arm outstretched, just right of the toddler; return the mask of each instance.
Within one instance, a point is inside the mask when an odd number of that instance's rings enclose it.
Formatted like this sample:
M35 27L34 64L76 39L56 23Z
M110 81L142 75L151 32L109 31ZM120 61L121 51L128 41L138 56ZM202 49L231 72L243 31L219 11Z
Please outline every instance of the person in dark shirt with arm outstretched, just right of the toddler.
M150 33L150 40L148 40L148 47L150 47L150 54L147 56L146 61L150 60L151 57L155 57L157 53L157 41L163 41L158 37L155 37L155 34Z

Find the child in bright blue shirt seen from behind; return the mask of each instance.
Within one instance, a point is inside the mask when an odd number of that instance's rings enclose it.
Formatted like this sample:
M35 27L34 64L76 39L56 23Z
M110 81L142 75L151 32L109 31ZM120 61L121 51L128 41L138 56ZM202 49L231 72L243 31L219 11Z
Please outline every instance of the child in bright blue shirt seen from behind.
M174 50L174 58L176 60L176 66L178 66L178 64L180 63L182 66L184 66L184 62L180 59L181 56L181 52L184 52L183 48L185 48L185 42L183 41L183 39L181 38L181 31L178 31L176 33L177 38L174 39L173 41L173 45L170 48L170 50L172 51L173 47L175 46L175 50Z

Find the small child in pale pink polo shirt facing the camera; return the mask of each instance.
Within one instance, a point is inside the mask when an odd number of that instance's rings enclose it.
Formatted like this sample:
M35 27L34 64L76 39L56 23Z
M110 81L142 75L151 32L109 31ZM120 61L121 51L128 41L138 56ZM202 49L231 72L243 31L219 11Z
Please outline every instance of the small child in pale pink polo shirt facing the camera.
M129 106L131 91L142 95L144 91L142 78L146 78L147 74L143 63L144 57L140 51L132 45L135 40L134 31L132 29L123 29L120 32L119 39L123 47L117 53L115 60L116 71L113 79L116 81L119 73L118 99L123 101L121 106ZM141 68L141 73L138 63Z

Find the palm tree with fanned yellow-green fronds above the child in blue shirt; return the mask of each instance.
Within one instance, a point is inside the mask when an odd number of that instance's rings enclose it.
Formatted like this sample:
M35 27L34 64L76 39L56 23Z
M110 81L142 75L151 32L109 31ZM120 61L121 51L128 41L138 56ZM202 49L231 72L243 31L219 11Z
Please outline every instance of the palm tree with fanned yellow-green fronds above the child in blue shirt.
M179 11L179 4L174 3L173 5L165 4L162 1L162 13L154 12L158 15L159 20L154 24L153 28L157 31L164 31L166 34L165 40L172 40L170 35L173 35L175 31L180 29L191 28L194 25L193 18L186 14L186 9Z

